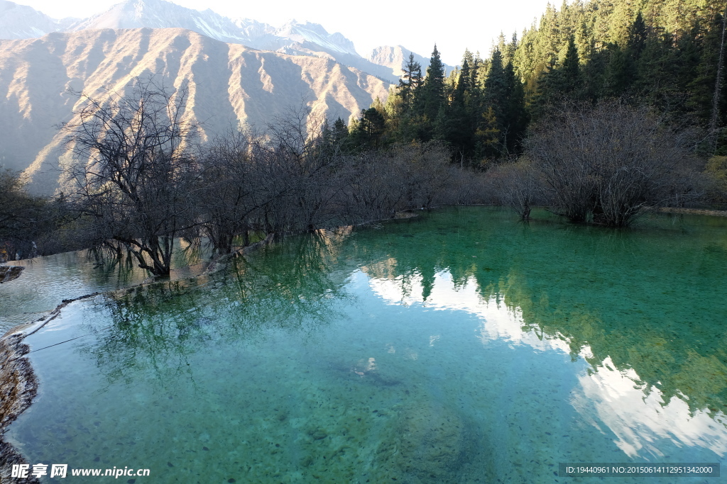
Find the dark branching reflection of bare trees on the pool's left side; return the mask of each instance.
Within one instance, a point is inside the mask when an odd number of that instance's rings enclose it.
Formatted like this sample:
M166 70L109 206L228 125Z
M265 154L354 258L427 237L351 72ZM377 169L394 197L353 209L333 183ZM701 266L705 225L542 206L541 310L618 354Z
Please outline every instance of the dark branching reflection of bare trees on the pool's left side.
M143 368L153 369L166 387L175 376L190 375L188 356L209 345L270 330L315 331L344 317L332 308L332 301L348 297L339 253L344 238L326 231L292 237L233 259L220 274L146 284L109 297L95 311L111 326L89 328L97 340L82 350L111 382L131 382Z

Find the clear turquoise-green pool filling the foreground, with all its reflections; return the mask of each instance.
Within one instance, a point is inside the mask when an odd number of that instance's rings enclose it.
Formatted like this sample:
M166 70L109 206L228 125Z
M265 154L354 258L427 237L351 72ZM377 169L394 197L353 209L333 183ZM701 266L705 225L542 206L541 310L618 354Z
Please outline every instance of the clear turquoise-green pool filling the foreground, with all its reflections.
M451 209L79 301L28 338L41 392L7 436L33 463L149 468L137 483L591 482L558 463L719 462L726 222Z

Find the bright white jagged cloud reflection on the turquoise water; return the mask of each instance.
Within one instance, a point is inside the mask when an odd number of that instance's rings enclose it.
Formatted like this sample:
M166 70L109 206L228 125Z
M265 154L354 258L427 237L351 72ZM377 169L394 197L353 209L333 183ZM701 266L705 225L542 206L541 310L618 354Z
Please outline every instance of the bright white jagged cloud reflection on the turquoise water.
M365 268L364 268L365 270ZM500 295L483 298L478 283L470 277L464 284L454 284L448 270L435 274L430 295L423 298L422 276L369 278L369 286L389 304L422 305L433 310L459 310L481 318L475 337L483 345L490 341L507 341L510 346L528 345L537 351L570 353L570 340L556 335L538 335L537 328L523 320L520 308L510 308ZM430 344L438 340L430 336ZM593 351L585 345L579 356L592 360ZM574 366L582 372L579 387L571 392L571 405L585 421L616 435L614 443L630 458L656 460L664 458L659 440L668 439L677 446L702 447L724 456L727 454L727 417L723 412L690 412L686 395L664 402L662 392L646 388L634 369L618 370L610 357L600 364Z

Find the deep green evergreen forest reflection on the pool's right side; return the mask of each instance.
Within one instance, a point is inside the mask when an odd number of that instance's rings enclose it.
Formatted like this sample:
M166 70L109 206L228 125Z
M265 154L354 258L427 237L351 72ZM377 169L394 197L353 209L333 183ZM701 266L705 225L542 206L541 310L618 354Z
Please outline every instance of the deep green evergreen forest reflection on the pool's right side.
M523 331L565 337L574 359L590 348L593 371L610 358L616 369L635 370L646 393L654 387L665 401L686 396L692 411L727 410L727 303L720 290L727 221L702 226L704 218L691 218L693 226L672 226L663 217L648 228L614 231L553 224L543 213L530 224L497 223L506 216L496 213L483 226L473 209L460 209L459 229L427 227L429 237L417 234L405 245L390 245L406 234L401 224L365 245L358 237L366 258L377 261L364 271L398 279L403 296L417 276L426 301L435 274L446 270L455 289L474 281L481 300L521 312Z

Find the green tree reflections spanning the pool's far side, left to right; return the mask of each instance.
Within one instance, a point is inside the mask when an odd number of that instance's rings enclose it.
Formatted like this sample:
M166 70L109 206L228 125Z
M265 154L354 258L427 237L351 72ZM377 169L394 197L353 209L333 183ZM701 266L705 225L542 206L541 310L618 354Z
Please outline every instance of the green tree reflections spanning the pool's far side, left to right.
M108 301L113 328L93 351L100 366L135 366L142 355L181 356L218 337L312 331L345 317L331 303L357 264L372 279L395 279L403 296L417 279L424 301L446 269L455 289L474 280L481 300L520 311L523 331L565 337L595 372L608 358L638 374L646 394L683 398L691 411L727 409L723 226L715 239L668 223L613 231L542 214L529 225L483 225L476 209L451 214L454 229L430 216L356 237L321 231L236 258L222 274L129 290Z

